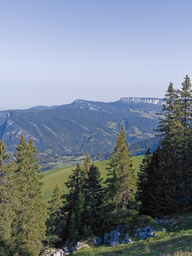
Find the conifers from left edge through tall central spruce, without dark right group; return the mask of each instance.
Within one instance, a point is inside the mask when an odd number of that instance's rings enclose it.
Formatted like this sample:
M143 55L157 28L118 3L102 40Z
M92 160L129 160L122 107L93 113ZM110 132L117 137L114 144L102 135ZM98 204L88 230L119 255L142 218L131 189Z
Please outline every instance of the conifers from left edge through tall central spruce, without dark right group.
M22 133L14 160L8 163L0 142L0 255L38 255L43 243L102 235L129 221L135 214L136 178L124 127L115 144L104 185L87 152L83 166L77 165L65 183L66 193L56 185L46 209L32 139L27 142Z

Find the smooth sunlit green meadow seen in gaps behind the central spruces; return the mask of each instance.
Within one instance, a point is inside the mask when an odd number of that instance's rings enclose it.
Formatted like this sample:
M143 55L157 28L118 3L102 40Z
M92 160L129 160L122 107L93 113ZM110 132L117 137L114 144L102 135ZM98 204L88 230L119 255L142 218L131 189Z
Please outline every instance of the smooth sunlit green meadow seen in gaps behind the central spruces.
M137 172L139 165L142 162L143 156L142 155L132 156L131 159L133 163L133 168ZM107 170L106 170L107 163L108 163L108 160L94 163L99 168L103 181L107 177ZM62 191L65 191L64 183L67 182L68 176L72 174L72 170L74 168L75 167L63 167L63 168L46 171L43 173L44 178L42 181L44 182L43 195L44 195L45 202L48 202L50 200L50 197L52 195L52 192L56 184L59 185Z

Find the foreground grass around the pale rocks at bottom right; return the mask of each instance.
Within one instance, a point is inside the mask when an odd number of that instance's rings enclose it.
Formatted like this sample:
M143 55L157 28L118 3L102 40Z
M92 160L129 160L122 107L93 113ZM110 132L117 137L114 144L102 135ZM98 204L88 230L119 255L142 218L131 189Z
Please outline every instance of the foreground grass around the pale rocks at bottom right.
M146 255L146 256L155 256L155 255L192 255L192 214L181 213L183 219L178 218L180 215L172 214L167 217L167 219L177 220L178 229L174 229L174 226L167 226L165 224L156 224L155 220L147 217L148 222L143 223L140 219L140 223L138 223L138 219L135 220L136 223L133 222L133 225L130 228L129 235L135 242L130 243L129 245L119 245L114 247L98 247L91 246L90 248L83 248L74 253L74 255L78 256L88 256L88 255L103 255L103 256L111 256L111 255ZM184 226L181 226L181 224ZM148 238L146 240L138 240L133 234L136 232L134 229L134 225L139 224L139 227L145 227L147 225L152 225L156 230L160 230L165 228L167 232L164 234L160 232L159 236L154 238Z

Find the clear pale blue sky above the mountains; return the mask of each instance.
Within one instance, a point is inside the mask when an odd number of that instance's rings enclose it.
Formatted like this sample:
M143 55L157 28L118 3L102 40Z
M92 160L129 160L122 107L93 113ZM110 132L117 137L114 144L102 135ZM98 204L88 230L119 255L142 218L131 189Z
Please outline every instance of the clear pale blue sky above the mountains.
M191 0L0 0L0 110L180 89L191 13Z

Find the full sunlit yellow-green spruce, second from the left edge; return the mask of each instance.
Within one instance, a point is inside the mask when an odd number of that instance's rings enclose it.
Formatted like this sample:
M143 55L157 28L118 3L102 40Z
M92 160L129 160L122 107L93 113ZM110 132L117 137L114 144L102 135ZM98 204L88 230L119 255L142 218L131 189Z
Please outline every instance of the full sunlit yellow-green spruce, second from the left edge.
M45 206L42 196L42 176L37 164L37 149L27 143L24 134L15 154L16 183L20 205L16 208L16 250L23 255L38 255L45 238Z

